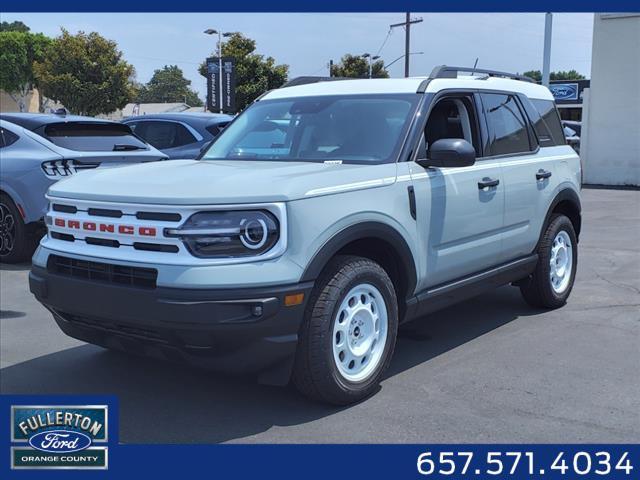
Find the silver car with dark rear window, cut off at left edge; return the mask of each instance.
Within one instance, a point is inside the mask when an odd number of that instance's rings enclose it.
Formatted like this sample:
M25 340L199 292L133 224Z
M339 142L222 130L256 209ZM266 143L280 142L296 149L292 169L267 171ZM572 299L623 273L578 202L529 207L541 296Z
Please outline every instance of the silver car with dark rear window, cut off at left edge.
M45 194L83 170L166 160L127 125L57 114L0 114L0 262L33 254L44 231Z

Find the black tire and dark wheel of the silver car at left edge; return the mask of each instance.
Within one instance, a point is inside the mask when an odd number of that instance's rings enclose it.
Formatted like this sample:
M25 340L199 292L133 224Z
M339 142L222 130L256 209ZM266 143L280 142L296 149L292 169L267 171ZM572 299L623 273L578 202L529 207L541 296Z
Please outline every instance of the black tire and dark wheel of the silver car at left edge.
M19 263L33 255L37 238L25 225L13 200L0 194L0 262Z

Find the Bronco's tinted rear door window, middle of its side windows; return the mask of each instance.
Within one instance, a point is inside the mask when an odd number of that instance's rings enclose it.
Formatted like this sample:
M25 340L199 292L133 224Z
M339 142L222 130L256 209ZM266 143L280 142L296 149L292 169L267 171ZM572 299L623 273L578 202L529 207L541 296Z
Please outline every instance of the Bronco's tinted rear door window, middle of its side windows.
M500 93L480 96L489 127L489 155L530 152L528 123L516 98Z

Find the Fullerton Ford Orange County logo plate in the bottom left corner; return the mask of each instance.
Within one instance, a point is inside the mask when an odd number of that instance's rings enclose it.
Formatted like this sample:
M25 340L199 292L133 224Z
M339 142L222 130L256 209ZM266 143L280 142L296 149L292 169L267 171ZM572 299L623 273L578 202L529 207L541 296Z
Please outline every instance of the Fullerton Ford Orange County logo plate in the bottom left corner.
M106 405L11 407L11 467L106 469Z

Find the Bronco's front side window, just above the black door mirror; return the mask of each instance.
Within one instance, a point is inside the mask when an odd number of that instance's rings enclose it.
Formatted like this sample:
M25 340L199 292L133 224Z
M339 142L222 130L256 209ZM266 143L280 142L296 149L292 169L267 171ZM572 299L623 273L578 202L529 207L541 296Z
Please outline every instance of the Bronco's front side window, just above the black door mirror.
M474 146L480 156L480 138L475 106L472 97L447 96L438 100L429 112L424 129L426 151L421 146L420 156L428 155L429 147L443 138L462 138Z

